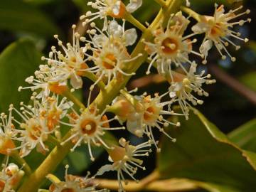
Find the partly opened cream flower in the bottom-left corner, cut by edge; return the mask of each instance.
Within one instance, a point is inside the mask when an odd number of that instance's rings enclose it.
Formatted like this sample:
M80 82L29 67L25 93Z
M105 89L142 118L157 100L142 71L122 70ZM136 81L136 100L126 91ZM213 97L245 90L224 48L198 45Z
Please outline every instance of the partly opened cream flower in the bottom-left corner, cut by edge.
M2 192L15 192L14 187L18 185L21 178L24 175L24 171L18 169L16 164L9 164L8 161L3 165L3 169L0 172L0 191Z

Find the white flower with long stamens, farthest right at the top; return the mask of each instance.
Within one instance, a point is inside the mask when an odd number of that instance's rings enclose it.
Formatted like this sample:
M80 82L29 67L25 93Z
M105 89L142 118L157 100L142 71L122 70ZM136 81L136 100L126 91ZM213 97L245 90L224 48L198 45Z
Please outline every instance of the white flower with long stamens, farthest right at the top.
M242 26L244 23L251 21L250 18L247 18L247 20L232 21L234 18L238 18L244 14L250 14L249 9L240 14L236 14L240 9L242 9L242 6L238 7L238 9L230 10L225 14L224 6L218 6L215 4L214 15L201 16L201 21L192 27L194 33L206 33L206 37L203 39L203 43L200 48L200 52L204 55L203 63L207 63L206 59L208 56L208 50L212 48L213 43L222 56L222 59L226 58L224 53L227 53L231 60L235 61L235 57L230 55L226 47L231 44L235 46L236 50L238 50L240 46L235 45L235 43L230 40L230 37L240 41L245 41L245 43L248 39L240 38L241 34L235 32L233 28L234 26Z

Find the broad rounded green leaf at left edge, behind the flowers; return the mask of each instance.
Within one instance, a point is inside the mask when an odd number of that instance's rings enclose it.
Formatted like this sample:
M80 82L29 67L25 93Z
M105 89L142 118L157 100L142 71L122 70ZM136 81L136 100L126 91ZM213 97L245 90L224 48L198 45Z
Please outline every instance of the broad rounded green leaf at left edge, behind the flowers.
M6 112L11 103L19 107L28 102L31 91L18 92L18 87L27 85L24 80L33 75L41 63L41 53L26 39L11 43L0 55L0 111Z

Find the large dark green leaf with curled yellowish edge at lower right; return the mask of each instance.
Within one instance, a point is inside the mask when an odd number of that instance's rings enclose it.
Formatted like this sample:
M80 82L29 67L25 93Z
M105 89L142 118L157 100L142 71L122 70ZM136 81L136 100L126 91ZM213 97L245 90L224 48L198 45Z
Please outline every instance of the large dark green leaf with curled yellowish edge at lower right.
M240 149L203 114L194 112L188 121L179 119L181 127L169 127L176 143L162 138L161 178L190 178L234 191L256 191L256 154Z

